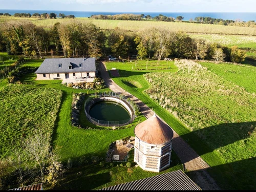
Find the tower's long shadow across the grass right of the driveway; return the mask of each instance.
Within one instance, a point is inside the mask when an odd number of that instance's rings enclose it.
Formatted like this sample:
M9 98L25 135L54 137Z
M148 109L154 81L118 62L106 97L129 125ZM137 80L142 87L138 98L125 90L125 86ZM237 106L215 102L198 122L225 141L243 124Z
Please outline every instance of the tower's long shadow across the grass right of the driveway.
M182 156L182 163L196 159L199 156L213 152L214 150L232 144L239 140L245 140L255 129L256 121L241 123L223 123L216 126L205 127L204 129L189 132L173 139L173 148L179 143L179 139L183 139L188 144L187 147L193 147L197 153L185 154L184 151L178 152L178 156ZM200 146L200 148L198 147Z

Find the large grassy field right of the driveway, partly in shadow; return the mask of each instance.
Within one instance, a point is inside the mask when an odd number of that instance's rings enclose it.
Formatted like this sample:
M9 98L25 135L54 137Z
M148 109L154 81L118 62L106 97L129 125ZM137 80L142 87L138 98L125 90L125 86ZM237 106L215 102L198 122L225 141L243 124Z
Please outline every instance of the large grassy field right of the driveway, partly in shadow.
M256 188L253 184L256 183L254 179L256 178L256 140L254 139L256 117L253 114L256 104L255 95L230 83L229 81L231 79L236 78L234 76L226 80L214 73L209 74L209 72L204 72L204 76L201 76L203 74L194 75L191 72L191 74L182 74L177 73L177 68L167 73L157 70L155 71L158 73L146 73L146 71L131 70L132 64L129 63L129 65L125 63L106 62L108 69L119 69L121 77L115 77L113 80L120 87L153 108L183 139L189 139L188 143L190 146L211 166L209 172L217 180L222 189ZM243 69L245 71L242 74L253 73L253 71L249 73L250 69L248 71L246 71L247 68L245 67ZM222 66L220 65L218 71L221 70ZM231 66L229 70L234 69ZM143 74L148 82L150 82L150 86L143 77ZM254 80L253 77L253 75L248 76L248 83L239 85L245 87L247 85L247 89L253 90L254 88L250 88L253 87L250 84ZM198 83L195 83L197 81ZM154 86L152 84L153 82ZM194 86L191 83L195 83ZM140 88L135 86L135 84L140 84ZM187 86L182 87L183 84ZM220 90L210 90L215 86ZM151 91L147 93L151 95L151 98L143 92L148 88ZM210 93L209 91L212 92ZM208 95L207 98L204 97L205 93ZM172 96L172 98L169 100L165 98L168 96ZM195 101L194 105L191 105L190 101ZM168 105L172 106L171 110L166 107L166 102L169 102ZM218 113L216 114L215 111L213 113L205 111L209 109L205 104L211 106L212 110L218 111L219 109L223 109L218 112L223 117L218 117ZM225 104L227 105L225 106ZM163 109L163 105L165 105L165 109ZM177 110L180 111L174 113ZM197 115L200 111L203 113ZM210 118L208 115L210 115ZM174 116L178 117L183 123L177 121ZM185 122L184 119L191 121L191 124ZM187 126L184 126L184 124ZM186 127L194 129L194 132L188 131Z

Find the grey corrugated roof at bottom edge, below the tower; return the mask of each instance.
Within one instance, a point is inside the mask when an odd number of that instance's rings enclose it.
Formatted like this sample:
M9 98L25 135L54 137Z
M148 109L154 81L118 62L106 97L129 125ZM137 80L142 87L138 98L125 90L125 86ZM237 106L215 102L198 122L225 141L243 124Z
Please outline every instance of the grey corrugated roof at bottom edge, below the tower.
M202 190L182 170L122 183L99 190Z

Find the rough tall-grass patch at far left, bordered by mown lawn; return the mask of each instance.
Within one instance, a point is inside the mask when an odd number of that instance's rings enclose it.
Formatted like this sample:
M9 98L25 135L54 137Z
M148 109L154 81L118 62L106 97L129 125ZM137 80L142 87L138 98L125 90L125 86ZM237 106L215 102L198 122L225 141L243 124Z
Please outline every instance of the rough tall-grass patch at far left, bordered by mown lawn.
M0 91L1 157L13 156L22 138L34 130L53 133L59 110L61 92L54 89L6 86Z

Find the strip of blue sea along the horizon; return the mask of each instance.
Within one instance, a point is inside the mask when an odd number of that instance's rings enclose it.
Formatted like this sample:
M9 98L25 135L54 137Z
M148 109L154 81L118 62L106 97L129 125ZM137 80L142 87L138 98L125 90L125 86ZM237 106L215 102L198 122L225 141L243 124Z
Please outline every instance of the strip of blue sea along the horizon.
M222 18L224 20L240 20L243 22L248 22L248 20L256 20L256 12L93 12L93 11L56 11L56 10L10 10L10 9L0 9L0 13L9 13L13 15L14 13L55 13L57 16L59 13L64 13L65 15L75 15L75 17L90 17L92 15L116 15L123 13L132 14L144 14L151 15L152 17L158 16L159 14L165 15L167 17L177 17L183 16L183 20L195 19L195 17L211 17L211 18Z

